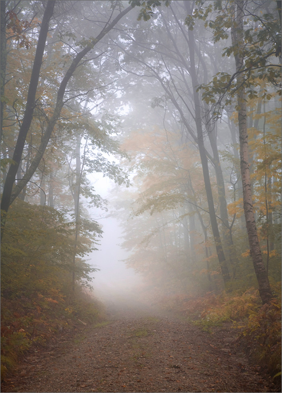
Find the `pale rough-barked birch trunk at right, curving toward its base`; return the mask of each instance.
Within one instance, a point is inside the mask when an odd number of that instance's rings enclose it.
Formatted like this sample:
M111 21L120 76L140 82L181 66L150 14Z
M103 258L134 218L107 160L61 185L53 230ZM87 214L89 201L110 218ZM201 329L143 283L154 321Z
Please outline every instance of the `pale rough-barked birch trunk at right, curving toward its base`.
M243 37L243 0L235 0L236 17L231 28L232 45L237 47L235 57L236 71L240 71L244 66L244 37ZM258 242L256 222L253 209L251 178L249 168L249 146L248 146L248 130L247 130L247 108L246 94L244 87L243 73L238 73L237 77L237 104L238 104L238 125L240 139L240 168L243 184L243 201L244 213L246 218L247 232L250 244L250 251L253 259L256 279L258 282L258 290L262 303L268 303L272 298L272 292L269 285L266 269L263 264L262 254Z

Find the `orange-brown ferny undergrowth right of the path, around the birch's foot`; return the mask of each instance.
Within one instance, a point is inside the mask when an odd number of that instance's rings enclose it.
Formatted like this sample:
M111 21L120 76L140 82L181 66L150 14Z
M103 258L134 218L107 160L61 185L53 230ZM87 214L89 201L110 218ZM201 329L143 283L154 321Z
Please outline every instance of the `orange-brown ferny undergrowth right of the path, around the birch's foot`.
M236 345L251 364L258 365L274 379L281 376L281 282L272 287L274 298L261 304L258 290L250 288L220 295L175 301L176 308L192 323L212 333L212 328L230 322L237 332Z

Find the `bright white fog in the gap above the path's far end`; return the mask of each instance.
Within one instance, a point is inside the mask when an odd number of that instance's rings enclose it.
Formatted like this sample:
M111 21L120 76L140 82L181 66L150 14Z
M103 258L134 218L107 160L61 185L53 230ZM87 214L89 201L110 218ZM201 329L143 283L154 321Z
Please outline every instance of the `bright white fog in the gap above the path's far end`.
M112 196L114 183L107 178L96 176L95 189L105 199ZM97 179L98 177L98 179ZM99 178L100 177L100 178ZM92 215L103 228L103 237L97 251L89 255L91 266L100 269L93 273L93 294L105 304L132 304L138 301L138 291L143 279L134 269L126 266L125 259L129 253L123 250L122 228L111 210L109 202L108 212L101 209L92 210Z

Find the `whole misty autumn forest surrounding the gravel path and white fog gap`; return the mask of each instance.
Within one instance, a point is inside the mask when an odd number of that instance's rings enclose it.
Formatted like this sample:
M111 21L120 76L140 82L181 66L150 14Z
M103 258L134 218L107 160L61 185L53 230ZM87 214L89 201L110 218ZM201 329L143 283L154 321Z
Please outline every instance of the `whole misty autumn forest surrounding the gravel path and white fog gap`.
M106 323L103 213L139 301L202 332L231 326L279 386L281 1L0 8L1 380Z

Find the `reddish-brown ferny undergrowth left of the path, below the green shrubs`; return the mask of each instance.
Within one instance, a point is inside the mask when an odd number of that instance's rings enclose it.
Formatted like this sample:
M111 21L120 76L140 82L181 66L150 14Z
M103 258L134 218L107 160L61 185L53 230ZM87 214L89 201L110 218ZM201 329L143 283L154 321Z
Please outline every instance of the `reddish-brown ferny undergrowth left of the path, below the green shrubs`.
M12 372L24 353L45 346L56 335L78 325L102 324L103 306L83 293L72 302L32 298L1 299L1 381Z

